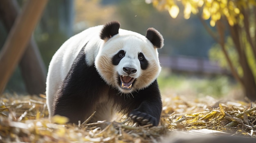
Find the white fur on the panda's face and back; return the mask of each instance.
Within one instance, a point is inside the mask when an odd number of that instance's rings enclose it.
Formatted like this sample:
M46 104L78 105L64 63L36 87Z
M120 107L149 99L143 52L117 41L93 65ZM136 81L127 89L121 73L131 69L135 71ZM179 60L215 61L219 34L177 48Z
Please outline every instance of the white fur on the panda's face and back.
M74 35L63 43L61 48L59 48L52 57L46 81L47 107L50 117L53 115L52 104L54 95L69 72L74 59L86 43L86 63L88 65L95 64L97 71L107 84L116 87L122 93L143 89L149 86L157 78L161 70L158 60L158 52L146 37L136 32L119 29L119 34L113 36L108 41L104 41L99 37L102 28L103 26L95 26ZM126 55L120 61L119 65L113 66L111 64L112 56L121 49L126 51ZM139 52L144 53L145 58L150 63L148 68L152 71L141 70L137 57ZM105 57L105 61L103 61L103 57ZM104 66L104 68L102 66ZM115 78L116 74L126 75L122 70L123 67L137 69L135 74L130 75L133 78L138 78L135 85L132 85L132 90L122 89L120 85L117 84ZM106 71L104 71L105 69L111 69L113 73L106 73Z

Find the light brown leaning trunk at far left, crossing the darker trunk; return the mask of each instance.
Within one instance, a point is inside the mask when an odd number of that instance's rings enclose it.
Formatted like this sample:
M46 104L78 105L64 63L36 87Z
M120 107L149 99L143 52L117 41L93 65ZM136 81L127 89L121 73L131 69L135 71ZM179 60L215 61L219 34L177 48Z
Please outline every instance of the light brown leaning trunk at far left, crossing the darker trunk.
M7 0L8 1L8 0ZM0 1L1 6L6 1ZM0 93L4 91L13 70L26 50L28 41L43 12L47 0L28 0L23 11L16 18L0 52ZM35 59L32 59L34 61ZM33 65L36 66L36 65Z

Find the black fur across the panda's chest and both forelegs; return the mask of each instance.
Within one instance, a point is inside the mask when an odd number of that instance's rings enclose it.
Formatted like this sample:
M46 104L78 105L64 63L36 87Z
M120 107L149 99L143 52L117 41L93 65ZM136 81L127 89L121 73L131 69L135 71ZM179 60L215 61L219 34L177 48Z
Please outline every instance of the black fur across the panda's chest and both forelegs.
M56 93L54 115L68 117L70 123L83 122L96 110L101 93L108 93L109 101L113 101L112 107L116 106L119 112L129 115L133 121L140 125L159 124L162 101L157 80L132 95L119 95L116 89L106 85L94 66L86 64L83 51L84 48Z

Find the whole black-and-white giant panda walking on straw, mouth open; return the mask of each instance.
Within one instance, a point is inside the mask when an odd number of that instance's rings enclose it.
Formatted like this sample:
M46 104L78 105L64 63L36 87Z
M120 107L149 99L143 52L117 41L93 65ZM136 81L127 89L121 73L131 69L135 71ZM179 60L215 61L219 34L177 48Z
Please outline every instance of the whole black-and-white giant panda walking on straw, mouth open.
M139 125L159 124L162 100L157 49L163 37L120 29L117 21L88 28L68 39L52 57L46 81L49 117L70 123L111 121L115 112Z

